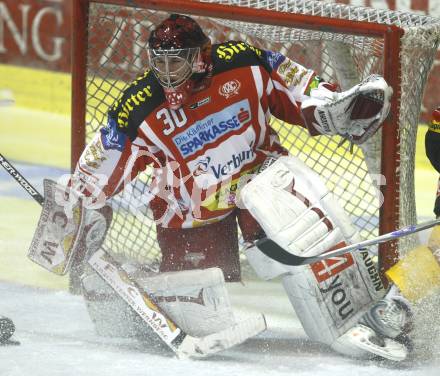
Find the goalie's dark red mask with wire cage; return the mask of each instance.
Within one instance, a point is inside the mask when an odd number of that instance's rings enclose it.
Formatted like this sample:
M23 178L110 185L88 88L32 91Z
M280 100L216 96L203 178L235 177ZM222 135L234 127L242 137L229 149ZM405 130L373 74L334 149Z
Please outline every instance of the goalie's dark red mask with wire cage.
M168 105L176 110L212 70L211 41L192 18L172 14L150 35L148 60Z

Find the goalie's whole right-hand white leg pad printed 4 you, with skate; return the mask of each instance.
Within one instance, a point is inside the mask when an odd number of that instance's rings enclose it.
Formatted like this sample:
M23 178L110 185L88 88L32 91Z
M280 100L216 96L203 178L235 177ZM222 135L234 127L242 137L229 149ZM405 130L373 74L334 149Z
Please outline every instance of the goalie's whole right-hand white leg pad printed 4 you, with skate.
M241 200L267 237L292 253L319 255L360 240L319 176L294 157L281 157L263 170L242 189ZM404 345L364 325L365 313L385 294L368 252L295 267L270 259L255 246L247 249L246 256L261 278L281 276L311 339L350 356L375 354L393 360L406 357ZM387 307L392 310L395 305ZM380 315L373 317L382 320ZM381 345L373 340L377 336L384 337Z

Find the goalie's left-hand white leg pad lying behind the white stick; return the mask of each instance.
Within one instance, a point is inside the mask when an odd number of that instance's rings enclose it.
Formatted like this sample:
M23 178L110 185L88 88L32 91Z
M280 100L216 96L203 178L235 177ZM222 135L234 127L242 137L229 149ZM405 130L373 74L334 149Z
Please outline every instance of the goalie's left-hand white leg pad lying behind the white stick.
M133 278L152 294L159 307L179 328L194 337L219 332L235 323L223 273L218 268L155 275L141 272ZM133 320L132 316L137 315L130 313L128 305L99 276L92 274L84 277L82 282L89 314L100 334L148 335L148 329L139 332L139 320ZM99 296L106 298L93 299ZM111 318L108 312L118 314ZM103 315L106 320L102 320ZM146 327L142 323L141 326Z

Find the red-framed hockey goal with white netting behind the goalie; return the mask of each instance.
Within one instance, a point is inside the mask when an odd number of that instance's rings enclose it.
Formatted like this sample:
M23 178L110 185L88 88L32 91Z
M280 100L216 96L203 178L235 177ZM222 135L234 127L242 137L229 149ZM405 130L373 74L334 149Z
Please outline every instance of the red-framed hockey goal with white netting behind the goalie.
M383 130L353 153L338 147L338 137L312 138L300 127L276 120L272 125L290 152L323 176L362 236L416 222L415 139L440 35L439 21L423 15L309 0L76 0L72 168L87 139L105 124L106 106L145 69L149 30L173 12L195 17L213 42L241 39L280 51L343 89L369 74L383 75L394 90L390 116ZM148 172L142 175L131 190L136 199L148 185ZM385 181L377 189L380 175ZM121 196L111 200L116 216L104 247L121 258L157 262L151 213ZM403 239L381 245L381 268L413 244Z

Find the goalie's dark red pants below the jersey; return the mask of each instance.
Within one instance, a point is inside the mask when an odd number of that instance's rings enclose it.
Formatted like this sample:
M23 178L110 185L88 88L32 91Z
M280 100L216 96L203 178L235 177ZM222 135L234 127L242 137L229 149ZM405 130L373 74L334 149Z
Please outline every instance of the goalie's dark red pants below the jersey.
M241 280L237 221L246 242L264 236L247 210L235 209L221 221L195 228L165 228L157 225L162 251L161 272L219 267L225 280Z

